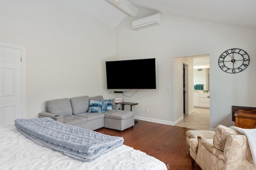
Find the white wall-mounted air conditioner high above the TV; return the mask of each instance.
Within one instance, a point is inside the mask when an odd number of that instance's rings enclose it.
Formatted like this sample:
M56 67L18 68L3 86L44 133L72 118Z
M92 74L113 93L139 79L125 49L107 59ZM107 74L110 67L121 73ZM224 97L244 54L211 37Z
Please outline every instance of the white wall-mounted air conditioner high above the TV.
M155 25L161 25L161 23L161 14L157 13L151 16L146 16L144 18L139 18L138 20L132 21L132 29L136 31L139 29L144 29Z

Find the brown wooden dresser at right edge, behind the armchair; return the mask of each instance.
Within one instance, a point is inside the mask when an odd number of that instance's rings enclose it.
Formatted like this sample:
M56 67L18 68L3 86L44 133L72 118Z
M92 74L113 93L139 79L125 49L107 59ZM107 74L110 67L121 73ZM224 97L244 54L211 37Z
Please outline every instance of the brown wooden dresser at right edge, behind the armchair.
M235 111L235 125L244 129L256 128L256 109L251 111L241 110Z

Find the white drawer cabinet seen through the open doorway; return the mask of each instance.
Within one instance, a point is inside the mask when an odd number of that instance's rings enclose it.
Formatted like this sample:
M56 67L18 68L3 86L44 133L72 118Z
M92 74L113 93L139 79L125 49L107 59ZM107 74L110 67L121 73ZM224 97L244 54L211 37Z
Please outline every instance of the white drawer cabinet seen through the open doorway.
M210 108L210 93L194 93L194 107Z

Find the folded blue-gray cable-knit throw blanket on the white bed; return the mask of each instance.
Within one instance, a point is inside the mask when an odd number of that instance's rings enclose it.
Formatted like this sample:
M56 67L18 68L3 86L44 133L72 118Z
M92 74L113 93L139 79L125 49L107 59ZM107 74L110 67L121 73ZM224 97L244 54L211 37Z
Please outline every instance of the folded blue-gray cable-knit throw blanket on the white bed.
M20 133L38 145L82 162L91 162L124 143L122 137L66 125L50 117L16 119L15 125Z

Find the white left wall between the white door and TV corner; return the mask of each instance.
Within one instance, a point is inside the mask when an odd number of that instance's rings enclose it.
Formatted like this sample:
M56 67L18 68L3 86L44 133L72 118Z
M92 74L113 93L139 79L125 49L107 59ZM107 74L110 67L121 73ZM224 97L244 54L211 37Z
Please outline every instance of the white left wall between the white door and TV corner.
M26 118L58 98L103 95L115 28L58 1L1 0L0 42L26 47Z

